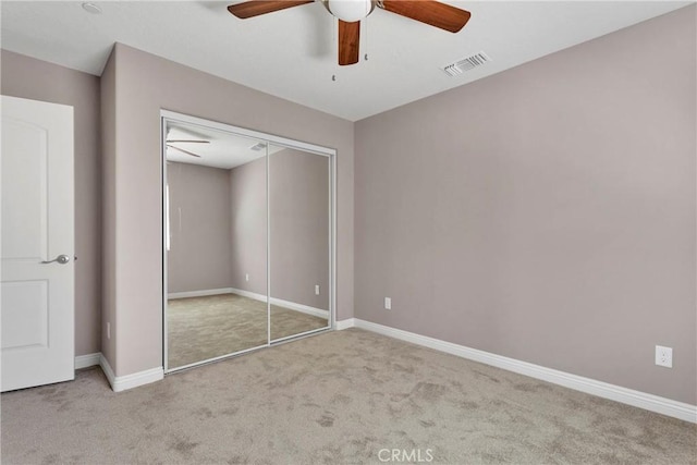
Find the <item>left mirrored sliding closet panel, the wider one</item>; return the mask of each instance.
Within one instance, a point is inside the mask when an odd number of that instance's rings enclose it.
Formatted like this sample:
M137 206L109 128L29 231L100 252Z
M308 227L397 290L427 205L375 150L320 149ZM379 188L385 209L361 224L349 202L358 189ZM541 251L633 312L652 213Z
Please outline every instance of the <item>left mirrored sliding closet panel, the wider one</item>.
M266 144L171 122L166 154L167 366L265 345Z

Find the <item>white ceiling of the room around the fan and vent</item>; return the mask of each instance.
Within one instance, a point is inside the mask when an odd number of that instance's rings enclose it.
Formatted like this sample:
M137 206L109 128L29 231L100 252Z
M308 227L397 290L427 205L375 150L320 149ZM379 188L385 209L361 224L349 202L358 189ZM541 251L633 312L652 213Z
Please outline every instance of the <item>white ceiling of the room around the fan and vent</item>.
M115 41L351 121L516 66L694 1L445 1L472 12L458 34L376 9L360 56L337 64L337 25L315 2L239 20L220 1L1 1L2 48L100 75ZM442 68L485 51L457 77ZM335 76L335 81L332 79Z

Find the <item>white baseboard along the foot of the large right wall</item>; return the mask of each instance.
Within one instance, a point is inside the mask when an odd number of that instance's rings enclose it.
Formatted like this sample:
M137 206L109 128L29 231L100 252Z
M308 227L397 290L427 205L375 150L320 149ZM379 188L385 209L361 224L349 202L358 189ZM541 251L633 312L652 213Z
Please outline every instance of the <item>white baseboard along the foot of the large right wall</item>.
M585 378L564 371L546 368L527 362L516 360L501 355L491 354L489 352L479 351L477 348L466 347L464 345L453 344L451 342L441 341L435 338L416 334L400 329L390 328L383 325L360 320L358 318L350 318L347 320L337 321L337 329L360 328L367 331L377 332L390 338L423 345L425 347L435 348L448 354L457 355L463 358L503 368L530 378L540 379L563 386L565 388L582 391L587 394L597 395L599 397L609 399L611 401L645 408L650 412L680 418L685 421L697 423L697 406L683 402L673 401L671 399L648 394L641 391L610 384L603 381Z

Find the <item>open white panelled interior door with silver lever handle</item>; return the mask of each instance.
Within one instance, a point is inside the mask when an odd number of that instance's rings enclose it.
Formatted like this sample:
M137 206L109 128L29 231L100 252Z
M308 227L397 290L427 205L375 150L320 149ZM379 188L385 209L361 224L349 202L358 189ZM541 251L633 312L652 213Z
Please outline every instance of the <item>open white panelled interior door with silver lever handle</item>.
M1 389L75 376L73 108L1 97Z

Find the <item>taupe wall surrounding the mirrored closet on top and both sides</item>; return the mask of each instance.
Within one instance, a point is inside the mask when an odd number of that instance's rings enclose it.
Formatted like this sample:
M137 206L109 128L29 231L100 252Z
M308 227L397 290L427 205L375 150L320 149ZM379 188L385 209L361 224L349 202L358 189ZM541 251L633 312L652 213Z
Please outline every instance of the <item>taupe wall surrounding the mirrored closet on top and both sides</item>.
M352 317L353 124L123 45L113 58L115 256L105 287L118 322L115 375L162 366L162 108L338 149L338 316Z

